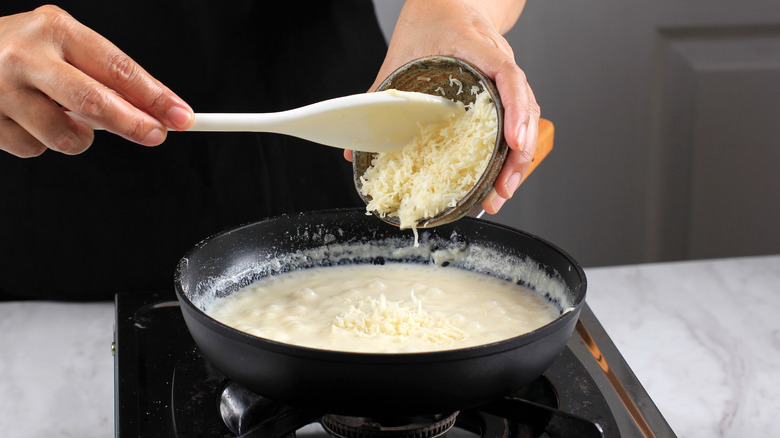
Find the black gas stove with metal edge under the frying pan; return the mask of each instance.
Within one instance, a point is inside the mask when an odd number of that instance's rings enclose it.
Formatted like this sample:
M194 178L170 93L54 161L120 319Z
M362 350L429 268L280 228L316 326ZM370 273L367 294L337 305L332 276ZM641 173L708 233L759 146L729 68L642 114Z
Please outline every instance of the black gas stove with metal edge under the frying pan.
M343 417L252 393L200 354L172 293L117 295L114 352L122 438L675 436L587 304L535 381L483 406L411 418Z

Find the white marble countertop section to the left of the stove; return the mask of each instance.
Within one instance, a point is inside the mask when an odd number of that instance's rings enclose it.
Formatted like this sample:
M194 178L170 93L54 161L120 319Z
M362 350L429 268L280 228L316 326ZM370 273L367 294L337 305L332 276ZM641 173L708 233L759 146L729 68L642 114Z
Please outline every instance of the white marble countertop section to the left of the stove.
M114 434L113 303L0 303L0 437Z

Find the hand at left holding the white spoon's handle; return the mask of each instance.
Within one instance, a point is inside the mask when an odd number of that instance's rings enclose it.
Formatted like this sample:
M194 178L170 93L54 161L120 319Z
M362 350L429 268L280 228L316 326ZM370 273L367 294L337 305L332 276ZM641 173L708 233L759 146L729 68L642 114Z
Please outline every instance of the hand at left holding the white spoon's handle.
M0 17L0 150L84 152L92 129L65 109L146 146L193 120L184 100L62 9Z

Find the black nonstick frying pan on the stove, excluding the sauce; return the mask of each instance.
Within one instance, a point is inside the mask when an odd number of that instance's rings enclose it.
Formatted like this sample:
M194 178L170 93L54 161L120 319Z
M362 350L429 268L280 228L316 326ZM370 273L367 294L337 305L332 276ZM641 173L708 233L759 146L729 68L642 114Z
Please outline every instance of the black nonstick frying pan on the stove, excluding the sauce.
M463 218L412 233L339 209L279 216L210 237L175 273L182 313L203 356L232 381L271 400L337 415L396 418L453 412L509 395L563 350L585 300L580 265L522 231ZM426 353L318 350L259 338L205 310L263 277L352 263L436 263L535 289L562 309L553 322L514 338Z

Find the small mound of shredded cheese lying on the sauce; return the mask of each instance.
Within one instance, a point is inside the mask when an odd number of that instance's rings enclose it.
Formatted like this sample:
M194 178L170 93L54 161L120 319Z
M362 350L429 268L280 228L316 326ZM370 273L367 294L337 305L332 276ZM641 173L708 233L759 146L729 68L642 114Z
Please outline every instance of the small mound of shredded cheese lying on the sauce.
M349 330L360 337L390 336L397 342L416 339L434 345L452 345L469 335L453 326L443 315L423 310L422 301L411 294L411 303L361 298L348 311L336 317L334 327Z

